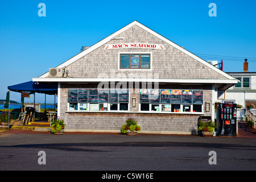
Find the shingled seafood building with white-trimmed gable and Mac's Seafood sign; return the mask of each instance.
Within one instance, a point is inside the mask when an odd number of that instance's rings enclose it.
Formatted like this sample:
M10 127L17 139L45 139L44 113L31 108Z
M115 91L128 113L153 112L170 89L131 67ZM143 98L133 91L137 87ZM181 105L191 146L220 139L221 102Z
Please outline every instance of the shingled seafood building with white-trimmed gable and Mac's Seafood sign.
M120 132L128 117L141 133L191 134L214 121L214 102L237 79L134 21L49 72L66 131Z

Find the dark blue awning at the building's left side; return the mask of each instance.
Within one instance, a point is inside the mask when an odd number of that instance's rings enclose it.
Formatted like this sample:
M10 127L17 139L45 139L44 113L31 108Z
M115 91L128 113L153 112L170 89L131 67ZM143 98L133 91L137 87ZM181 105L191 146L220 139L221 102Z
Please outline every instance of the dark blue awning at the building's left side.
M49 95L57 94L57 82L37 82L28 81L22 84L8 86L8 89L13 92L31 92L31 93L45 93Z

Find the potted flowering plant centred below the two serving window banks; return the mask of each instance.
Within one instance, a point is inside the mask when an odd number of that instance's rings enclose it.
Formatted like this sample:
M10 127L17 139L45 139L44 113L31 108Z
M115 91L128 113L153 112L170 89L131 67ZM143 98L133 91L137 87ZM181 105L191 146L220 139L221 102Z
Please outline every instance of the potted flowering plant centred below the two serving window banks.
M136 118L128 118L126 124L121 127L121 131L126 135L137 135L138 131L141 131L141 126L139 126Z

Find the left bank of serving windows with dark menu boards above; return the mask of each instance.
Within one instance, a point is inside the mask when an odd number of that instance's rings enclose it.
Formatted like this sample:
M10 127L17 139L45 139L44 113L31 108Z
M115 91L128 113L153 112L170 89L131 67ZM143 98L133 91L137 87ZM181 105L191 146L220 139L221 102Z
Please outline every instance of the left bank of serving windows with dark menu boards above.
M129 111L128 89L68 89L69 111Z

